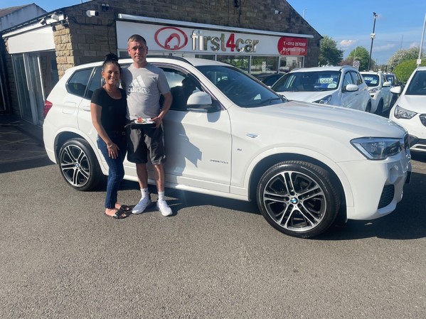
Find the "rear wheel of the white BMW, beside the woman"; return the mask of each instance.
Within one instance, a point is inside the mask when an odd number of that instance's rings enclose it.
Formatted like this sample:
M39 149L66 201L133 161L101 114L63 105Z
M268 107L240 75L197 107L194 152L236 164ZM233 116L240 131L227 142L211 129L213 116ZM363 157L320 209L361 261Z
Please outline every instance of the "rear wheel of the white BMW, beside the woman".
M102 180L95 153L84 139L70 139L60 148L60 174L76 190L91 190Z

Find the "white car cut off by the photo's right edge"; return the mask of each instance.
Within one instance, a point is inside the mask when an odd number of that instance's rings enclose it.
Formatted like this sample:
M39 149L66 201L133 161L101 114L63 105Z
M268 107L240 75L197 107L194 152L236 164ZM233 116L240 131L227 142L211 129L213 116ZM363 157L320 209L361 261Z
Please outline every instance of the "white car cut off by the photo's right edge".
M389 117L410 134L412 151L426 152L426 67L417 67L405 87L390 89L400 94Z

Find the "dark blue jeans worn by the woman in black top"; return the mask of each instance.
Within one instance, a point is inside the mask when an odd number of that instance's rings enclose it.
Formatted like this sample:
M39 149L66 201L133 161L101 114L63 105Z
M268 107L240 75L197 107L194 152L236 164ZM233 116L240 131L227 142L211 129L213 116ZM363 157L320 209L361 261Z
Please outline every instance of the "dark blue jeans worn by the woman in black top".
M124 178L123 161L127 153L127 136L125 133L123 135L121 131L108 132L108 136L119 148L117 158L108 156L107 144L99 136L97 136L97 148L100 149L109 168L105 208L115 208L119 185Z

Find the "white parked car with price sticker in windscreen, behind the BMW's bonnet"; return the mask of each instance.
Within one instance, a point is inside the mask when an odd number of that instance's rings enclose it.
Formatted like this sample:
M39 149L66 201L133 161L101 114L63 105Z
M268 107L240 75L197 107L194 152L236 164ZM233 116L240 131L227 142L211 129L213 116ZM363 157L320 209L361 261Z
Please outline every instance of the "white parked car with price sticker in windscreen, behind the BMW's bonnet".
M305 67L288 72L272 90L294 101L316 102L371 112L368 87L355 67Z

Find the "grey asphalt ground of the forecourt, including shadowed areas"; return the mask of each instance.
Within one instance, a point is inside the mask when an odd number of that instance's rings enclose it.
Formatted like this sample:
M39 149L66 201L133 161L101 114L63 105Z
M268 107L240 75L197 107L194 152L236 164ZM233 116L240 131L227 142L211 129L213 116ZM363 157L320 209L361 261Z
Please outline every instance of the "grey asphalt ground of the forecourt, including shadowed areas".
M392 214L297 239L252 203L176 190L171 217L105 217L105 188L70 188L18 126L0 137L0 318L426 316L425 156Z

